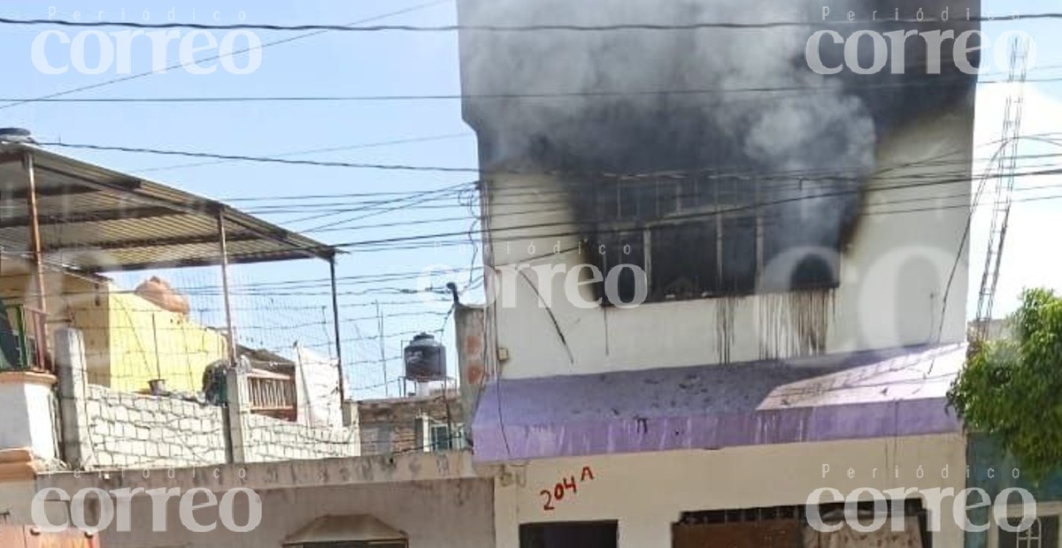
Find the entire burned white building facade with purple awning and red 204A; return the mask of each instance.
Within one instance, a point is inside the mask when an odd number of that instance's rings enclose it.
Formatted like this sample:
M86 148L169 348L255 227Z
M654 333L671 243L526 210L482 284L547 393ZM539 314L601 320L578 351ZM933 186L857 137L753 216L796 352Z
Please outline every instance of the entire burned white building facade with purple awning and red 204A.
M749 15L607 3L459 14ZM763 17L807 17L776 7ZM482 368L464 373L475 457L506 470L497 546L961 546L954 497L932 493L966 484L946 392L965 355L972 81L790 75L806 29L610 32L462 35L491 303L482 343L459 343ZM757 52L782 60L726 60ZM898 531L860 536L829 505L896 489ZM812 507L841 527L812 530Z

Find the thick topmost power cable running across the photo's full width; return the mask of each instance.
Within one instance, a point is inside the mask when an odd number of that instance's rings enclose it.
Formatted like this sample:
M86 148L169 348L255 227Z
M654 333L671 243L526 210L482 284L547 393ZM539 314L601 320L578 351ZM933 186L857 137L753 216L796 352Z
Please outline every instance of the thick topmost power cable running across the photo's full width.
M1040 14L1012 14L1012 20L1034 20L1034 19L1062 19L1062 13L1040 13ZM996 17L971 16L961 19L962 22L993 22ZM235 23L235 24L204 24L188 22L166 22L166 23L140 23L132 21L70 21L63 19L11 19L0 17L0 24L13 25L54 25L73 28L99 28L119 26L125 29L195 29L202 31L321 31L321 32L353 32L353 33L374 33L389 31L404 32L541 32L541 31L566 31L566 32L606 32L606 31L698 31L698 30L727 30L727 29L780 29L780 28L807 28L824 26L825 24L845 24L859 26L867 24L880 24L883 22L903 22L929 24L935 22L947 22L936 18L918 19L893 19L893 20L852 20L840 19L830 21L766 21L766 22L692 22L683 24L657 24L657 23L618 23L618 24L444 24L444 25L410 25L410 24L376 24L376 25L339 25L339 24L271 24L271 23Z

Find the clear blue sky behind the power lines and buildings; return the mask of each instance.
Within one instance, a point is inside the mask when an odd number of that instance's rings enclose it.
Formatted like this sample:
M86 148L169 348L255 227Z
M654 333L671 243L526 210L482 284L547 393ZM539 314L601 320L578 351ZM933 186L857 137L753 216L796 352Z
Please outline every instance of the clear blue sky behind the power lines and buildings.
M381 14L417 6L427 0L362 0L358 2L325 1L193 1L156 2L151 0L103 0L36 2L28 0L5 1L0 14L16 18L45 18L54 7L56 18L72 18L82 12L85 19L95 19L104 12L104 19L118 19L124 8L126 18L142 17L147 11L149 22L160 22L171 10L179 22L192 20L211 23L212 13L219 13L217 23L237 23L238 12L246 15L246 22L281 24L331 23L347 24ZM176 7L175 4L179 4ZM986 12L1035 13L1057 8L1050 1L987 0ZM137 15L134 15L137 14ZM451 24L456 22L452 2L436 2L412 12L381 19L380 23ZM1057 21L1000 21L988 23L988 33L1018 29L1033 36L1039 49L1038 67L1030 78L1062 76L1062 34ZM41 28L0 28L0 96L38 96L72 87L104 82L116 77L114 71L100 75L84 75L70 71L61 75L45 75L31 60L30 50ZM74 32L70 33L71 35ZM286 38L290 33L258 31L264 42ZM57 47L57 46L56 46ZM58 54L56 54L58 55ZM149 53L137 51L134 72L150 68ZM58 57L56 57L58 58ZM176 61L175 52L171 63ZM1050 67L1055 67L1054 69ZM999 77L993 69L989 79ZM988 88L997 88L986 92ZM998 139L999 114L1005 94L1001 86L984 86L978 103L979 142ZM1035 132L1062 131L1062 83L1034 83L1028 87L1030 100L1026 121ZM210 75L192 75L182 70L166 74L106 86L82 92L75 96L193 96L193 95L365 95L365 94L455 94L460 92L456 33L323 33L290 43L270 47L262 51L261 67L249 75L234 75L217 71ZM0 104L2 105L2 104ZM1054 112L1057 116L1048 116ZM423 102L365 102L365 103L223 103L223 104L27 104L0 109L0 126L31 128L39 140L76 143L116 144L155 148L208 151L224 154L276 155L292 151L321 147L353 146L365 143L439 137L388 146L340 151L328 154L298 156L315 160L349 162L402 163L470 167L476 165L476 146L472 131L461 120L457 101ZM1031 132L1027 130L1025 132ZM1056 137L1062 137L1056 136ZM1050 154L1058 145L1034 143L1023 147L1022 154ZM991 155L981 148L979 155ZM98 161L124 171L172 166L193 163L184 158L150 155L70 152L78 157ZM1045 160L1039 160L1044 163ZM145 173L149 178L215 198L247 198L261 196L299 196L307 194L430 191L474 179L472 174L382 172L371 170L286 166L259 163L220 163L184 169L155 170ZM1062 179L1018 181L1018 187L1062 184ZM1050 196L1049 190L1030 191ZM336 200L324 200L336 201ZM240 207L276 208L296 204L296 200L240 201ZM466 210L450 200L452 209L400 209L356 222L364 224L395 224L450 218L465 215ZM1013 296L1025 284L1062 287L1062 260L1045 258L1040 251L1038 234L1058 232L1060 202L1054 199L1015 205L1012 215L1013 230L1006 255L1004 279L1000 282L999 308L1003 312L1014 305ZM259 211L263 211L259 209ZM293 229L305 230L343 216L295 220L312 213L272 214L268 218ZM315 235L326 242L349 242L395 237L429 232L467 230L470 219L438 222L422 225L389 226L322 232ZM972 238L973 282L979 280L983 253L983 215L977 216ZM381 272L419 271L431 264L463 267L473 261L469 246L422 248L392 251L356 252L341 259L342 277L366 276ZM1051 263L1055 261L1055 263ZM235 269L235 283L275 282L327 277L323 263L298 262L285 265L239 267ZM216 270L190 270L172 275L176 285L196 286L219 283ZM122 277L122 281L136 282L142 275ZM392 295L393 287L412 288L412 280L377 284L349 284L345 291L375 290L369 295L344 295L343 317L367 318L375 314L374 300L387 303L386 331L393 335L386 338L389 357L400 353L401 342L413 331L439 329L444 321L435 307L427 310L415 296ZM976 293L976 283L972 283ZM323 293L324 286L294 289L290 293ZM282 289L281 289L282 291ZM217 321L217 302L203 303L196 299L213 299L192 295L193 307L213 308L206 318ZM323 322L322 311L327 300L321 297L277 295L267 298L238 298L237 307L241 323L252 328L241 333L251 346L284 347L294 339L305 343L321 344L330 328ZM421 312L424 314L418 314ZM330 314L330 313L329 313ZM396 316L397 315L397 316ZM372 319L347 321L343 324L343 338L376 335L376 321ZM449 341L452 332L447 331ZM327 351L321 347L321 351ZM379 349L375 340L352 341L344 347L344 361L352 381L348 386L378 385L382 374L378 364ZM390 360L391 377L400 371L399 360ZM452 370L452 368L451 368ZM391 393L395 393L392 385ZM380 395L378 389L355 393L358 396Z

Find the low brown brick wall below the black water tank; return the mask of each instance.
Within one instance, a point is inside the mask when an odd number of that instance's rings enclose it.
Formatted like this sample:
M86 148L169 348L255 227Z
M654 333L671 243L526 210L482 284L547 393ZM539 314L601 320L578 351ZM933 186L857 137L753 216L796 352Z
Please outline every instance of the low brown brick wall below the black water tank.
M456 394L355 402L361 431L361 454L408 452L430 443L417 432L423 417L435 424L463 422Z

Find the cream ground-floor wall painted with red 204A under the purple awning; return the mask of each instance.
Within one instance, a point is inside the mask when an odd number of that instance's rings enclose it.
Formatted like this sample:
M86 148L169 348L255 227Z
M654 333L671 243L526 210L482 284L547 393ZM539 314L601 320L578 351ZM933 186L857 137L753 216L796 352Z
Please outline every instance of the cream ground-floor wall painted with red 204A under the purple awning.
M829 466L826 477L823 465ZM942 479L945 466L948 478ZM594 479L584 479L584 467ZM958 493L965 485L965 442L956 435L599 456L532 461L509 471L511 478L499 480L495 494L497 548L518 548L520 524L586 520L618 520L619 548L668 548L671 524L682 512L804 505L820 488L844 495L859 488ZM553 498L553 510L546 510L542 492L571 477L577 490ZM933 546L962 546L953 501L943 500Z

